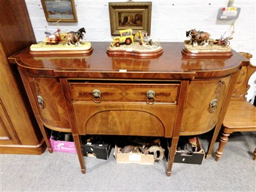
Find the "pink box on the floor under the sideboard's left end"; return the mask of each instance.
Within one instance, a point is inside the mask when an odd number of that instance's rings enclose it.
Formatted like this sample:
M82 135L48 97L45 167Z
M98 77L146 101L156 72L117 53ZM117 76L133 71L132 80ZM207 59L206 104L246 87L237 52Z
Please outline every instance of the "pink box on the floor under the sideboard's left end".
M56 141L53 140L53 137L51 136L50 142L52 145L52 150L53 151L58 151L58 152L67 152L67 153L72 153L76 154L76 147L75 143L71 141Z

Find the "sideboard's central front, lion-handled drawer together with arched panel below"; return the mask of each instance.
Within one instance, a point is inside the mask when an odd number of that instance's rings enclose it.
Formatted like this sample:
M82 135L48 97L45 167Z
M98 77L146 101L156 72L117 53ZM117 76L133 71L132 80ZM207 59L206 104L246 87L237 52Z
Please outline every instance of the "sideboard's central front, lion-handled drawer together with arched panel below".
M77 130L171 138L179 88L179 83L70 82Z

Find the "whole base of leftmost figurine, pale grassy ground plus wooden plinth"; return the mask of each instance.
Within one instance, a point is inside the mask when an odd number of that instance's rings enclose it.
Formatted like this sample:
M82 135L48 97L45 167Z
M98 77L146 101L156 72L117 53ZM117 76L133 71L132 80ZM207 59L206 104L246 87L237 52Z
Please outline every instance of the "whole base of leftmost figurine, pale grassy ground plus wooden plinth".
M30 46L30 54L91 54L92 51L90 42L82 42L79 46L39 42Z

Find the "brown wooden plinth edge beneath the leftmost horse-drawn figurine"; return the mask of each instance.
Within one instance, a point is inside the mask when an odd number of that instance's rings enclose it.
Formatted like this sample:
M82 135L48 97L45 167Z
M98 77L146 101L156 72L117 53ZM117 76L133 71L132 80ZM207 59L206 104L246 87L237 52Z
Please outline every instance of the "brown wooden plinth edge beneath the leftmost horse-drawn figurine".
M86 50L65 50L65 51L30 51L30 54L92 54L93 48Z

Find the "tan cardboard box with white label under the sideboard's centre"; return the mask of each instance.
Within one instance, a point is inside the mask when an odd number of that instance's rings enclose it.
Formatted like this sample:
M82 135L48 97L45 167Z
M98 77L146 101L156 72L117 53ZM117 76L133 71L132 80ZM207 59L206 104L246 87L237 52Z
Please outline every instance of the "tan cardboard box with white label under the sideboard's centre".
M115 146L114 156L116 163L154 164L154 155L152 154L122 154L120 147L117 146Z

